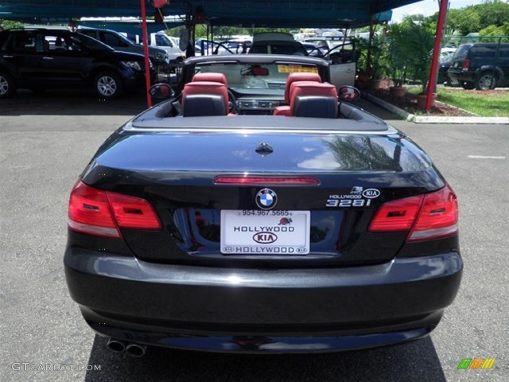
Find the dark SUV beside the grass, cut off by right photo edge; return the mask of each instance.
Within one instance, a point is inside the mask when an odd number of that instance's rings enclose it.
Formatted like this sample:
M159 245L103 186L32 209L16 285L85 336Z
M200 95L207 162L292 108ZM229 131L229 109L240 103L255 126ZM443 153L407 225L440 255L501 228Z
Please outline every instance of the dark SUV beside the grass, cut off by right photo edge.
M509 85L509 44L460 45L447 71L464 89L486 90Z

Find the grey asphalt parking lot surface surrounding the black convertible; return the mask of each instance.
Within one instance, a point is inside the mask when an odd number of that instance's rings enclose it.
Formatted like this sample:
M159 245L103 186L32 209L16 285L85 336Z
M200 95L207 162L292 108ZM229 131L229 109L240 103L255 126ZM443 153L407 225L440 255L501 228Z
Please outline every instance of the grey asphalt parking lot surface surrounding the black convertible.
M0 103L0 381L507 380L507 125L390 121L430 154L459 197L462 287L430 337L384 349L297 356L154 348L140 359L111 353L67 291L67 201L99 144L144 108L143 95L100 101L72 92L19 93ZM489 370L458 369L464 358L496 361ZM100 370L78 370L85 365Z

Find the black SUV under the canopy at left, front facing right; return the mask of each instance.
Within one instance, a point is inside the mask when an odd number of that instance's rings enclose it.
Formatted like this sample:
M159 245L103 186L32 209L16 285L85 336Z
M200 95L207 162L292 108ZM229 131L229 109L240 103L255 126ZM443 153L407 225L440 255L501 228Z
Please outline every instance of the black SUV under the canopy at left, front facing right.
M117 51L67 30L0 32L0 98L18 88L80 87L95 89L102 99L117 98L125 90L145 88L144 60L141 54Z

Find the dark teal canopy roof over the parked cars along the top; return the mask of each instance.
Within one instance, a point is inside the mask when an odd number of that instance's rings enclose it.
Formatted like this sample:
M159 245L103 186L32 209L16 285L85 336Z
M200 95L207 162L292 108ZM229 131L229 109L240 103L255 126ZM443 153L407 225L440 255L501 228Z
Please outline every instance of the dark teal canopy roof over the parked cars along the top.
M144 0L145 1L145 0ZM171 0L164 16L203 10L213 25L346 28L390 20L389 11L418 0ZM155 8L147 1L147 14ZM377 15L378 14L378 15ZM0 0L0 18L66 22L80 17L140 17L140 0Z

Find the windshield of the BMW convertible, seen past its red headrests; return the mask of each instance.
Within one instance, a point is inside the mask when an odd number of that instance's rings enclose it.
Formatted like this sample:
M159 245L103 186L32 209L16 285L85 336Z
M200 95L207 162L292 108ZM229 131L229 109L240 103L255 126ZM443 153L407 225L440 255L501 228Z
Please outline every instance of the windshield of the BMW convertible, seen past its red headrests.
M222 73L227 77L228 86L232 89L278 89L283 91L290 73L319 73L313 64L241 64L241 63L207 63L196 65L195 73Z

